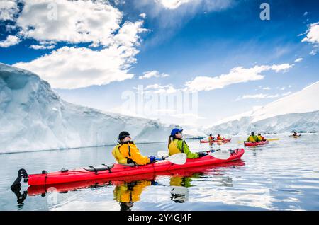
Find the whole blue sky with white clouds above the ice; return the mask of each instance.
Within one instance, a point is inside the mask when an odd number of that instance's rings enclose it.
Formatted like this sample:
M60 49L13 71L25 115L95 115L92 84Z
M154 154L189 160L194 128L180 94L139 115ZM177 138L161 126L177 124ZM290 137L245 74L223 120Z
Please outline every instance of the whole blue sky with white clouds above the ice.
M210 125L318 81L318 1L60 0L49 23L52 1L9 2L0 62L34 71L72 103ZM269 21L259 18L263 2ZM197 113L123 110L123 92L138 85L160 95L198 91Z

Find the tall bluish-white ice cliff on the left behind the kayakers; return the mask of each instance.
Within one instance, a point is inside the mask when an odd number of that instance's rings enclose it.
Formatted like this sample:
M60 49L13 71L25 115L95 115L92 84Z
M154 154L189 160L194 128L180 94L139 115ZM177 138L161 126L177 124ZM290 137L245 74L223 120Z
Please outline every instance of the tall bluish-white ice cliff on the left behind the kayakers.
M67 103L39 76L0 64L0 153L116 144L123 130L167 141L172 127Z

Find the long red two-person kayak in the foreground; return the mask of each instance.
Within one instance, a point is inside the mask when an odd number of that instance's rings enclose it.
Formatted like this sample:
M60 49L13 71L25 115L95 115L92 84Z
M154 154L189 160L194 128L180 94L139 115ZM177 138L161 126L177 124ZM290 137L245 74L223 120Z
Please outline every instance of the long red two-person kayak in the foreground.
M28 175L25 181L28 185L54 185L60 183L72 183L83 180L99 180L123 178L125 176L136 176L145 173L157 173L162 171L174 171L185 168L196 168L198 166L208 166L219 163L236 161L245 153L244 149L235 149L230 151L228 159L214 158L213 156L203 156L201 158L187 158L186 163L177 165L167 160L157 161L145 166L125 166L118 163L111 165L91 166L86 168L76 168L73 170L61 170L41 174Z

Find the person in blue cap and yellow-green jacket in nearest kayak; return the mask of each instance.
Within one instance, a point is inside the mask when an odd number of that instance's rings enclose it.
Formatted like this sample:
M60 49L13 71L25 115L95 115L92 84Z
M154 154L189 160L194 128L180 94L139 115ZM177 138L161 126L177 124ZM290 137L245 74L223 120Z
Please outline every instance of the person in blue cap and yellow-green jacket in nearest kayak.
M182 139L183 134L181 132L183 132L183 129L178 129L178 128L172 129L171 135L169 136L169 143L168 143L169 156L172 156L178 153L186 154L187 158L199 158L199 157L207 156L206 152L192 153L189 150L189 146L186 144L185 140Z

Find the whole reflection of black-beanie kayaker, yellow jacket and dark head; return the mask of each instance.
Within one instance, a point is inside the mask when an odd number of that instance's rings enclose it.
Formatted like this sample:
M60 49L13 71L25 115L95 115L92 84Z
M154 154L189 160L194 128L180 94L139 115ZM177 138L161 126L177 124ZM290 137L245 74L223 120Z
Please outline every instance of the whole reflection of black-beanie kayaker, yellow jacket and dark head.
M120 203L121 211L131 211L134 202L140 201L142 190L147 186L157 185L154 180L138 180L129 183L119 182L113 190L114 200Z

